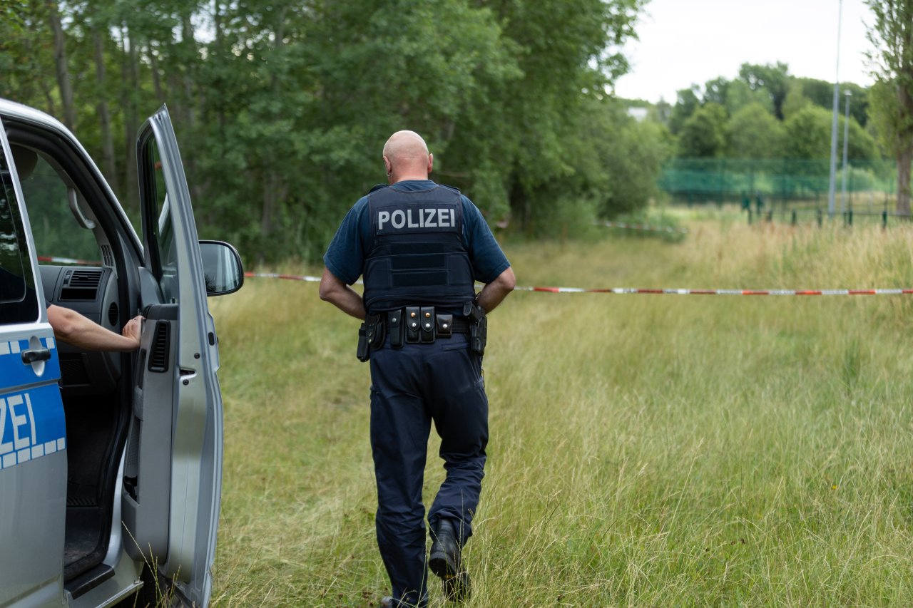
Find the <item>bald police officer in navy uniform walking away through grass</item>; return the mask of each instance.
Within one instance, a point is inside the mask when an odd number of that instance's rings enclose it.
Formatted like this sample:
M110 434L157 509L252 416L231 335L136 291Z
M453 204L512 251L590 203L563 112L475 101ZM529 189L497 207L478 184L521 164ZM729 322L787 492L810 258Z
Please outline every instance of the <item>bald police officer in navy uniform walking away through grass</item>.
M393 587L382 605L424 606L428 568L447 599L470 591L460 554L488 444L485 313L515 280L476 205L428 179L434 156L417 133L395 132L383 164L389 185L359 199L323 257L320 298L365 320L360 359L371 360L377 543ZM362 275L363 298L349 287ZM476 280L485 283L477 295ZM422 484L432 421L446 479L428 511L426 559Z

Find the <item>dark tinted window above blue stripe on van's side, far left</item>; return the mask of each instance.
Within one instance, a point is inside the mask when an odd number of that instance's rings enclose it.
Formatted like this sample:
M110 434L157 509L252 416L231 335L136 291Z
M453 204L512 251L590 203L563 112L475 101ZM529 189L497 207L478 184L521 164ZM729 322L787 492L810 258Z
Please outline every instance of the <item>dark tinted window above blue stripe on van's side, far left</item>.
M13 175L0 148L0 324L38 320L35 278Z

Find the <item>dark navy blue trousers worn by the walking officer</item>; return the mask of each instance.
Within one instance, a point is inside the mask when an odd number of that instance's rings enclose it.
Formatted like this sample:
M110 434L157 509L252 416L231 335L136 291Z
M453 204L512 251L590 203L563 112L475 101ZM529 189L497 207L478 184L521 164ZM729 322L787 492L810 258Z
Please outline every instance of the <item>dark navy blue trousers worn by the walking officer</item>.
M482 360L455 334L432 344L389 341L371 353L371 447L377 477L377 544L394 605L427 603L422 484L428 435L441 437L446 479L428 511L434 529L453 521L461 544L472 535L488 445L488 397Z

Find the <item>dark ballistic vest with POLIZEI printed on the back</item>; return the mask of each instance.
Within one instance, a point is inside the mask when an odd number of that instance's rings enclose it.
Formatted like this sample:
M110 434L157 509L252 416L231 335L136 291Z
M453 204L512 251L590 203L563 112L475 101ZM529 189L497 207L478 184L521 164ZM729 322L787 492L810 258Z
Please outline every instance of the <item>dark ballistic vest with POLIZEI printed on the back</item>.
M364 263L364 308L370 313L404 306L459 308L475 296L463 245L459 191L436 185L401 192L381 186L368 194L372 242Z

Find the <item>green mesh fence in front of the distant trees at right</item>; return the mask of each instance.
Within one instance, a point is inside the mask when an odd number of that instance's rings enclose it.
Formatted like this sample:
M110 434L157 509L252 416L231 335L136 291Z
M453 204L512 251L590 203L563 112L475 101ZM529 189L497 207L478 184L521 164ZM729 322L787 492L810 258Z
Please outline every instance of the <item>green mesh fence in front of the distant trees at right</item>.
M835 205L841 205L843 167L838 163ZM827 206L830 162L794 159L675 158L666 162L659 187L673 202L736 203L757 208ZM894 205L897 165L893 160L850 162L844 205L857 211Z

